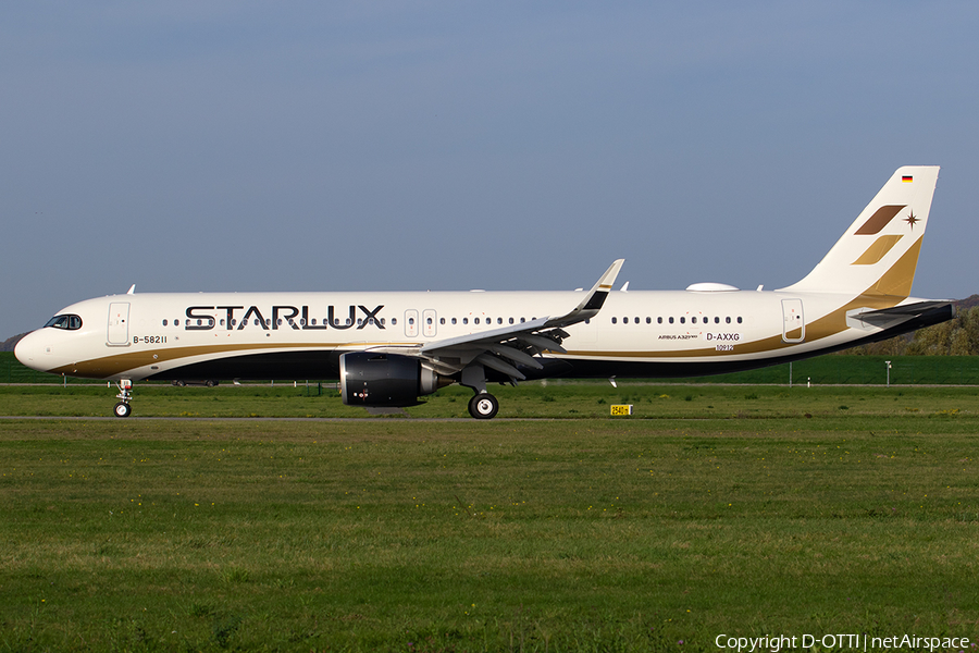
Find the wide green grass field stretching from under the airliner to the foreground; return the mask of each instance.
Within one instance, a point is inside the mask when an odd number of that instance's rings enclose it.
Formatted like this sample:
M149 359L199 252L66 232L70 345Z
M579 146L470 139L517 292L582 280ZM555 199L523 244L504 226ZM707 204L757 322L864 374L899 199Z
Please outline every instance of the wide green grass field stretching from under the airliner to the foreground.
M5 387L0 414L113 394ZM975 389L497 394L554 419L0 420L0 651L979 639ZM134 415L363 415L327 395L137 386Z

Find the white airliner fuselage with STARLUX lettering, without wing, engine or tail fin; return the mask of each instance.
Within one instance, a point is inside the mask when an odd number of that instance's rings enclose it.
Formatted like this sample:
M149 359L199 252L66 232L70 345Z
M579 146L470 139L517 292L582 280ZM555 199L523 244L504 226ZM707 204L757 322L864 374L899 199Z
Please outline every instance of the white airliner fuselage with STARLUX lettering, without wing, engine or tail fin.
M232 378L325 379L337 373L331 353L417 349L560 315L580 297L580 292L113 295L66 307L61 313L78 316L80 329L38 330L20 343L17 357L44 371L112 380L227 378L222 370L234 372ZM877 326L848 326L844 309L884 305L853 300L823 293L612 292L598 316L566 329L567 354L545 358L570 362L572 369L561 375L571 377L697 375L761 367L880 333ZM265 365L249 373L255 357ZM311 365L302 364L313 357ZM188 375L194 365L199 373ZM319 374L310 374L314 371Z

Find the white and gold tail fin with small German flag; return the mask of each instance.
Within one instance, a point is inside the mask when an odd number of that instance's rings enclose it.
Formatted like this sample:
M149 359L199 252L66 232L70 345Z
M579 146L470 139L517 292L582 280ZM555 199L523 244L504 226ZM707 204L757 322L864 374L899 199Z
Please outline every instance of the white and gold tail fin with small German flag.
M819 264L782 289L907 297L938 173L938 165L899 168Z

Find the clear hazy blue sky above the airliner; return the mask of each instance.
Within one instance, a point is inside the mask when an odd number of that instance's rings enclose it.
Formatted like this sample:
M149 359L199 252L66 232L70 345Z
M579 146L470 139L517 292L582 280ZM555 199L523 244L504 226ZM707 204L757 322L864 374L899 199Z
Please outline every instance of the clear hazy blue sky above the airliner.
M0 8L0 338L137 292L797 281L903 164L979 293L975 2ZM974 180L970 182L969 180Z

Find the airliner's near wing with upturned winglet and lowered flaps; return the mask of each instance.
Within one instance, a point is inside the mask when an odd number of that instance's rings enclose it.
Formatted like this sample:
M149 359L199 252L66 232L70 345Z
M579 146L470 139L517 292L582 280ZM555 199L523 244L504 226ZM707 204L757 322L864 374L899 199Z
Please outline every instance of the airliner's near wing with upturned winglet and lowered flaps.
M609 266L579 305L562 316L432 342L422 346L419 355L445 373L458 372L475 362L507 374L512 381L522 381L526 377L516 365L538 370L544 367L536 358L540 354L565 354L561 341L568 333L563 326L598 315L623 262L619 259Z

